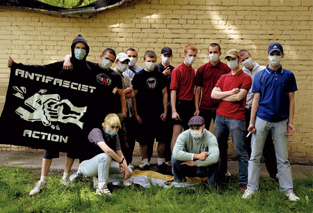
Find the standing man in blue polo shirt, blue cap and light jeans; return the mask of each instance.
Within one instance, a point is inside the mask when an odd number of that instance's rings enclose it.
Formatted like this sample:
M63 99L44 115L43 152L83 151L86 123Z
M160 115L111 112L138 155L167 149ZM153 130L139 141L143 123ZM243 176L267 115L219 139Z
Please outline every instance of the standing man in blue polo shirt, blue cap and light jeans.
M259 166L268 132L274 139L280 191L290 201L300 198L294 194L291 166L288 161L289 136L294 129L294 92L298 90L294 73L282 68L282 45L273 42L268 46L269 64L255 74L254 93L248 131L252 132L251 157L248 166L248 186L242 198L251 198L259 189Z

